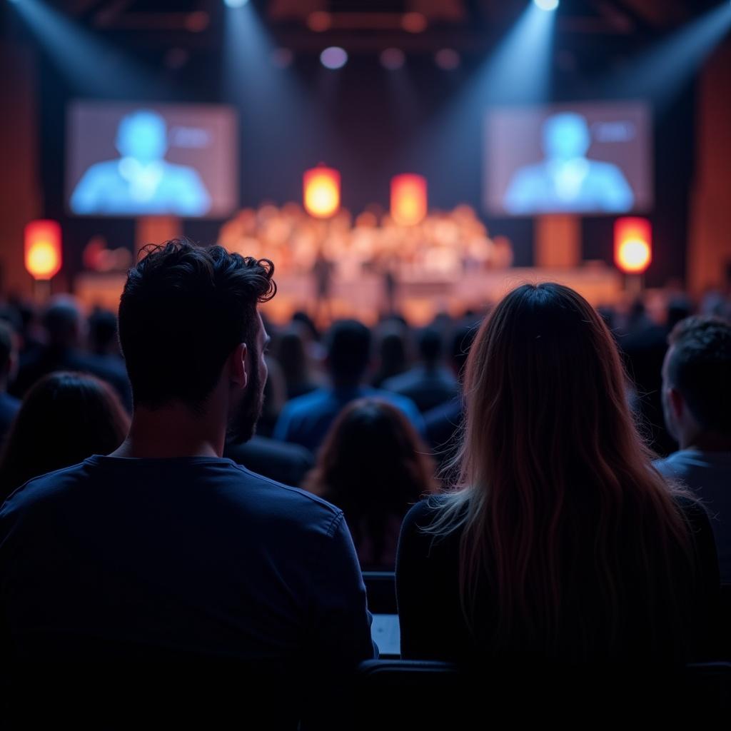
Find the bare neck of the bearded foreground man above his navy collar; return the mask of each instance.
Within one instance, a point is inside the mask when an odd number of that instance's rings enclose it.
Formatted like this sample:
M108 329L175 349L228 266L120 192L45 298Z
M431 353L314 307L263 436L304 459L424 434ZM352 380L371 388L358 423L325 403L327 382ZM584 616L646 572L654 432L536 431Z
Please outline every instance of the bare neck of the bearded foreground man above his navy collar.
M127 438L111 457L164 459L220 457L226 437L224 420L195 414L183 404L135 409Z

